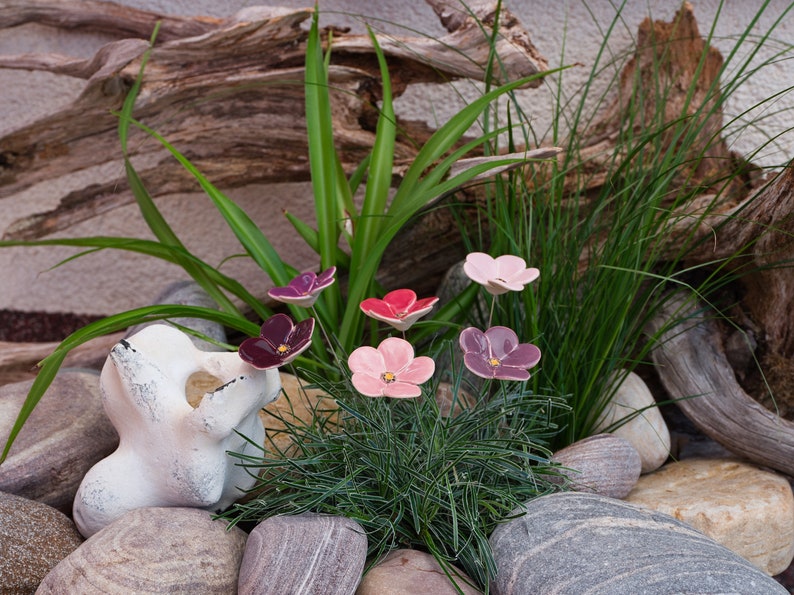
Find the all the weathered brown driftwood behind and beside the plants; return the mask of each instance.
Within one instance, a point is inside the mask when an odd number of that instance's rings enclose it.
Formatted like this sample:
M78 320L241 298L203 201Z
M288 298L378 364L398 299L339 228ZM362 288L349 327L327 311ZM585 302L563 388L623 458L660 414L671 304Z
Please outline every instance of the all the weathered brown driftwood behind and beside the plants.
M396 93L408 83L479 78L484 72L488 30L474 17L488 24L493 4L475 3L476 14L470 15L452 2L427 1L447 27L446 38L379 39ZM0 139L0 200L117 154L116 120L110 112L121 106L138 75L156 20L162 21L159 42L145 73L136 116L186 148L193 163L221 188L307 180L301 86L306 33L301 24L310 16L308 10L251 8L219 20L167 17L101 2L6 2L0 9L0 26L36 21L115 33L119 40L91 60L47 55L0 61L6 68L68 73L87 81L74 105ZM498 50L506 67L505 79L546 69L546 61L504 7L500 31ZM678 118L685 105L691 106L696 119L699 106L718 100L713 86L718 84L722 58L706 47L690 6L684 5L671 23L644 22L638 40L636 54L621 77L618 98L579 143L584 147L582 168L589 170L587 179L593 186L603 182L598 175L600 165L614 154L619 122L626 117L627 94L637 88L637 79L649 89L658 84L651 77L667 79L666 88L673 90L665 114L670 120ZM367 38L334 31L333 48L330 76L338 89L334 126L343 165L350 170L372 144L378 71ZM724 201L695 231L709 241L689 254L685 264L712 262L741 251L737 264L756 265L754 272L741 278L745 291L741 307L753 325L755 340L764 352L790 359L794 355L794 317L790 314L794 270L770 265L794 258L794 172L788 167L774 180L736 176L737 168L751 168L732 155L724 142L714 140L722 128L719 108L703 113L709 115L707 121L693 124L700 132L691 150L708 158L693 159L695 169L681 172L681 179L702 188L703 196L685 205L682 215L698 211L702 204L713 207L713 192L721 180L733 183L727 191L720 188ZM400 165L415 155L416 144L409 139L421 143L432 133L415 122L401 122L401 126L405 136L398 142L395 176ZM152 146L146 150L151 152ZM154 196L195 189L194 181L165 154L155 154L148 163L141 174ZM112 180L76 190L57 209L17 221L7 237L42 237L130 202L131 195L120 188L123 181ZM385 278L414 287L422 287L423 279L438 278L462 255L456 226L438 212L428 214L396 241L410 245L411 250L397 250L400 261L384 262ZM408 253L417 255L416 260L404 258ZM688 303L671 301L671 308L693 307ZM670 397L698 395L681 401L680 406L706 434L740 455L794 475L794 424L747 395L728 363L722 331L706 321L708 316L696 313L702 311L701 306L694 308L685 327L667 333L667 340L654 352Z

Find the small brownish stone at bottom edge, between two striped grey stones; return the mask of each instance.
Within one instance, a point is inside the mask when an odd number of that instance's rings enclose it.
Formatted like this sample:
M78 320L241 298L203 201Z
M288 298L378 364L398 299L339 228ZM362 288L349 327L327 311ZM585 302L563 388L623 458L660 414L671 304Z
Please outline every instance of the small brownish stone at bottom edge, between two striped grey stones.
M418 550L394 550L373 566L364 576L356 595L478 595L466 574L452 568L458 575L457 588L449 580L436 559Z

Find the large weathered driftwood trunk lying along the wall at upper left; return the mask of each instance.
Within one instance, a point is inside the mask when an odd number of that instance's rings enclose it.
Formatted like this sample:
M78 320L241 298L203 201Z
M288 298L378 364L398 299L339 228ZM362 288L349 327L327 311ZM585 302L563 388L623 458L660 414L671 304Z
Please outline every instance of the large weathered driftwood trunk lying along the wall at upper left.
M408 82L481 78L485 72L487 24L493 20L495 3L475 7L486 25L483 29L452 4L429 1L445 15L448 36L378 36L395 94ZM307 34L302 24L311 16L309 9L251 7L227 20L164 18L166 41L158 42L152 52L135 116L168 138L220 188L308 180L302 86ZM37 68L87 80L72 106L0 138L0 200L41 181L120 159L117 119L111 112L120 109L138 75L152 23L161 17L127 7L119 11L101 2L5 4L0 26L40 19L54 26L138 38L110 43L90 60L35 55L0 61L5 68ZM505 79L546 69L526 32L504 8L499 26L497 49L507 68ZM373 143L380 77L367 36L334 31L332 44L334 130L343 167L352 171ZM407 135L395 150L398 165L415 155L411 140L421 143L432 133L419 124L401 124ZM153 196L197 189L154 141L139 134L131 147L133 158L145 156L136 163ZM15 222L6 238L38 238L131 201L125 180L102 181L71 192L54 211Z

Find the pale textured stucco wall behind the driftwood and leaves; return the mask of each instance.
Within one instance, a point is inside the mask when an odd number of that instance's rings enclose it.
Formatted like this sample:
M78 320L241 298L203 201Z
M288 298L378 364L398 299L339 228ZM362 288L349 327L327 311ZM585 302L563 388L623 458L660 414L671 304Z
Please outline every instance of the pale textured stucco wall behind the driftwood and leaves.
M307 0L123 0L121 3L172 14L215 16L228 16L254 3L292 7L311 4ZM616 3L610 0L506 0L506 4L521 19L532 41L548 58L551 66L573 62L584 65L568 70L564 75L565 92L568 95L575 94L589 73L589 66L602 43L603 32L614 18L613 5ZM706 33L715 19L720 3L718 0L700 0L693 4L701 33ZM731 51L736 36L747 27L757 10L755 2L726 4L722 7L722 13L714 27L714 45L723 55ZM787 1L773 0L759 20L755 33L761 35L768 31L789 4ZM645 16L669 20L678 6L679 3L673 1L630 0L612 33L609 51L615 54L625 52L630 47L637 25ZM366 15L377 27L391 33L400 33L400 26L433 36L444 33L432 11L419 0L322 0L320 8L326 13L326 22L349 25L354 29L362 28L361 19L351 15ZM794 13L785 19L774 37L778 40L794 40ZM93 55L107 41L110 39L99 34L86 35L25 25L0 31L0 53L54 52L87 57ZM783 42L770 44L754 63L767 60L784 47ZM740 48L740 53L752 49L753 44L747 42ZM733 120L758 102L792 84L794 51L789 51L784 57L787 59L765 67L734 93L726 106L726 121ZM13 130L68 104L79 93L82 84L79 80L41 72L0 70L0 133ZM463 97L476 93L474 85L468 82L458 83L457 90ZM598 97L608 91L609 89L603 88L592 96ZM524 109L531 114L537 131L548 128L551 97L548 87L524 93ZM451 90L436 95L429 94L426 89L415 88L409 89L400 98L398 107L404 114L411 114L412 117L424 116L428 121L433 121L435 118L443 120L446 115L461 107L462 101ZM753 155L753 160L762 165L774 166L786 162L794 155L794 132L786 132L789 127L794 126L792 108L794 94L789 93L776 102L743 116L733 126L736 134L730 137L732 148L742 154ZM758 125L742 125L749 120L756 120ZM777 138L773 143L768 143L768 139L773 137ZM120 163L110 164L100 171L76 173L70 178L42 184L23 194L4 199L0 201L0 231L22 216L53 208L58 199L70 190L72 184L82 183L84 176L101 180L115 177L120 171ZM229 194L255 220L261 222L266 232L275 238L277 245L288 248L293 264L308 266L312 262L311 253L299 241L293 240L291 229L282 223L280 214L281 209L286 206L291 211L310 212L306 185L249 187ZM239 251L234 238L225 229L205 197L170 196L160 204L177 232L184 236L188 247L194 249L202 258L218 263ZM136 215L134 207L117 209L89 223L78 225L68 235L110 234L148 237L145 225ZM182 278L181 272L175 267L118 252L92 254L52 269L72 253L70 250L53 248L0 249L0 308L112 313L146 305L170 281ZM243 259L228 262L224 265L224 270L240 277L254 290L264 291L267 287L268 282L263 274Z

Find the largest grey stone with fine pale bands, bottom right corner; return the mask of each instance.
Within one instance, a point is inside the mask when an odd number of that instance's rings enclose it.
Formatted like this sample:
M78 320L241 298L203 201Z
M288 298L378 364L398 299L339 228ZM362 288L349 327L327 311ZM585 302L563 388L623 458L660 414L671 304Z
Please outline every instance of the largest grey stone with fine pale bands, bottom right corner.
M696 529L634 504L567 492L524 510L491 536L494 595L787 592Z

